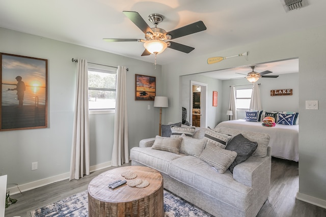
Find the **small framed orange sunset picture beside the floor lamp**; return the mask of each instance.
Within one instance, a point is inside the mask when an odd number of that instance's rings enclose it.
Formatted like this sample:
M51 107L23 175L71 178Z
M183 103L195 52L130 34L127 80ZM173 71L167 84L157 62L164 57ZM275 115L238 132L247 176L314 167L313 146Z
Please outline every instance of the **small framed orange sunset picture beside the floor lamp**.
M156 77L135 74L135 100L154 101Z

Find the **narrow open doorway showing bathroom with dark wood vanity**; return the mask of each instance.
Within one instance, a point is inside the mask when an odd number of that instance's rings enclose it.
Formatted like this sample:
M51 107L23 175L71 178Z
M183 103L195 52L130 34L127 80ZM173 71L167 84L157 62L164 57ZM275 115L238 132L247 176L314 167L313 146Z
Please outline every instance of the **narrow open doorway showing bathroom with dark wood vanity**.
M206 128L207 84L191 81L190 87L190 123L195 127Z

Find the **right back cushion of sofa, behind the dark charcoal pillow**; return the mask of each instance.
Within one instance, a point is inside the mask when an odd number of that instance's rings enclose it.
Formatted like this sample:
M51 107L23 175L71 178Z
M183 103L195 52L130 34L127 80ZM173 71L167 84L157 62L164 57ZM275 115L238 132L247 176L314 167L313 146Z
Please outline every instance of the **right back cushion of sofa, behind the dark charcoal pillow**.
M214 130L217 132L220 132L222 134L231 135L232 138L238 134L242 134L244 137L246 137L250 141L258 143L257 149L253 153L253 156L263 158L267 155L267 146L269 143L270 136L266 133L235 130L235 129L225 128L225 127L215 128Z

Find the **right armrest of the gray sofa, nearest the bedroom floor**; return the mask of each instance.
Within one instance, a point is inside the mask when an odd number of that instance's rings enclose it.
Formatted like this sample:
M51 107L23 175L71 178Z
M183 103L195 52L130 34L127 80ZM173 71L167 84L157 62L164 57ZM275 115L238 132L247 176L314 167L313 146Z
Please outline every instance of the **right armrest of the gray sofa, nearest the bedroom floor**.
M233 179L249 187L270 184L271 157L250 157L233 169ZM260 186L261 187L261 186Z

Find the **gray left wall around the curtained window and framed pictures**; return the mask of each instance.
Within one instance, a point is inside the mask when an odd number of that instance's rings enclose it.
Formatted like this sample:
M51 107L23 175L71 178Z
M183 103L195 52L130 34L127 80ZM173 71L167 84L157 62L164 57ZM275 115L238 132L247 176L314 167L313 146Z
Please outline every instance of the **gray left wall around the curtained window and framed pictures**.
M0 52L48 59L48 128L0 132L0 173L8 175L8 183L24 184L69 172L76 75L72 57L129 68L129 147L157 134L159 109L153 108L153 101L134 101L134 74L155 76L160 95L160 66L154 70L152 63L5 28L0 28L0 38ZM91 166L110 163L114 114L90 115L90 128ZM38 170L31 170L32 162L38 162Z

